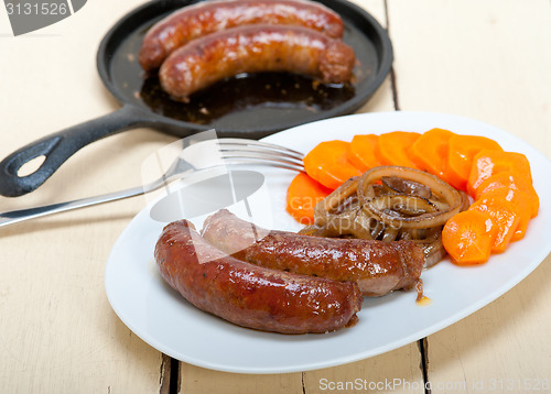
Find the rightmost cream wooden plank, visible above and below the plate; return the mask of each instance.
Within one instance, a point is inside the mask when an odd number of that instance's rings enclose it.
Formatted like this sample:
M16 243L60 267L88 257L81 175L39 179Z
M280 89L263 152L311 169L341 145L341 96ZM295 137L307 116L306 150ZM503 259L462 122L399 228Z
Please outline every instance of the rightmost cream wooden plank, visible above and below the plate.
M549 1L388 6L401 109L478 119L551 157ZM548 256L506 295L429 337L432 393L550 390L550 270Z

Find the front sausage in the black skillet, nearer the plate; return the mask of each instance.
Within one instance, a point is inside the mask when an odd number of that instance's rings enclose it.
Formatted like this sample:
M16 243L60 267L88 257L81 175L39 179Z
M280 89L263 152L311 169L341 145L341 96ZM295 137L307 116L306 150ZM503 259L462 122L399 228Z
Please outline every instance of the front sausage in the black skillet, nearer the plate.
M322 83L350 80L354 50L311 29L255 24L196 39L174 51L159 79L175 100L241 73L289 72Z

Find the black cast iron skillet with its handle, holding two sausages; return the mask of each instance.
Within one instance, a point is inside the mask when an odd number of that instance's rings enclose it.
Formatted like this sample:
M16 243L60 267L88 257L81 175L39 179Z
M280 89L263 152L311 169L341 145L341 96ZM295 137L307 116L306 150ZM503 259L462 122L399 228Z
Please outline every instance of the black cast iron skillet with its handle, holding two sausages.
M0 163L0 194L15 197L41 186L71 155L85 145L123 130L150 127L179 136L215 128L218 136L259 139L298 124L346 114L361 107L382 84L392 64L386 31L361 8L345 0L317 0L343 18L344 41L356 52L358 65L349 87L315 86L287 74L239 76L176 103L147 77L137 62L145 31L168 13L204 0L148 2L123 17L101 41L99 75L122 105L107 116L44 136ZM45 156L32 174L18 171Z

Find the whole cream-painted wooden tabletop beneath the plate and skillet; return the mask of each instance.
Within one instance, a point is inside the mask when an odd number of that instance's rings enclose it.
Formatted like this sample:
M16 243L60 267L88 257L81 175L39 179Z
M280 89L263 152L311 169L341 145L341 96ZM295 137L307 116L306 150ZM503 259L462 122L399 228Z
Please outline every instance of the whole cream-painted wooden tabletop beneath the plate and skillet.
M354 2L388 22L396 56L395 78L387 78L360 111L398 105L466 116L496 124L551 157L548 0ZM137 4L90 0L74 17L21 37L11 36L0 10L0 157L118 108L97 75L96 50L112 23ZM0 211L133 186L147 155L173 140L139 129L94 143L40 191L0 197ZM118 319L104 288L107 255L142 206L136 198L0 229L2 392L168 392L163 355ZM534 390L538 379L551 379L550 271L548 256L512 291L428 338L432 393L489 392L491 384L497 393L551 391L549 385ZM332 392L324 382L398 379L411 385L349 392L422 393L414 384L423 381L420 365L418 343L347 365L282 375L229 374L182 363L180 392L310 394ZM521 387L507 390L508 379Z

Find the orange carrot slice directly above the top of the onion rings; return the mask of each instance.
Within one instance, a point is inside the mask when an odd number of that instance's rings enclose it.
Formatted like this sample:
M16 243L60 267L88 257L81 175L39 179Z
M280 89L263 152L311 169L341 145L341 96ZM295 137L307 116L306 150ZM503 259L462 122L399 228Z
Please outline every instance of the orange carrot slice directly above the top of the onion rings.
M417 168L415 163L408 156L408 151L420 136L420 133L411 131L392 131L381 134L375 154L381 165Z

